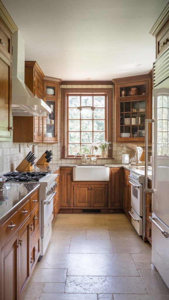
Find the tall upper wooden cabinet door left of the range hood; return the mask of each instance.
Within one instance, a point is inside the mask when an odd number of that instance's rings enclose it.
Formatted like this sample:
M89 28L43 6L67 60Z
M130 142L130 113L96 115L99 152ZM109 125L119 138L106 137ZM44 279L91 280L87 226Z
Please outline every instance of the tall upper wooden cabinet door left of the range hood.
M11 140L11 61L0 52L0 140Z

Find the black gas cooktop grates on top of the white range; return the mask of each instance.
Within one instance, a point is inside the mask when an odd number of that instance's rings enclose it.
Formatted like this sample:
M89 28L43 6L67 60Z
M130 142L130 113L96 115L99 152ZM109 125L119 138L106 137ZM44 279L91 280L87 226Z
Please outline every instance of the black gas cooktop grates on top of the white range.
M9 172L4 174L6 182L35 182L41 181L46 175L50 174L50 172Z

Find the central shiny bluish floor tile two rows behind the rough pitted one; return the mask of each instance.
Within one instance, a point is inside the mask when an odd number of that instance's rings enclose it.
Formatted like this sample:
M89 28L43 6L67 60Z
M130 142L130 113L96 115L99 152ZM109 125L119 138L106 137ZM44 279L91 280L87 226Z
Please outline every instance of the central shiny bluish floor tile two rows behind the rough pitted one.
M109 240L71 240L69 253L114 253L114 249Z

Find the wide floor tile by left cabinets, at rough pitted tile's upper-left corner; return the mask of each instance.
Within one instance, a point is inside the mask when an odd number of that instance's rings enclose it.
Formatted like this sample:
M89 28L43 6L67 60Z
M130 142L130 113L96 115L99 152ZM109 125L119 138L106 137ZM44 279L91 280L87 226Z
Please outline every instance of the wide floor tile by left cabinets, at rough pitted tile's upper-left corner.
M65 282L66 269L36 268L30 278L31 282Z

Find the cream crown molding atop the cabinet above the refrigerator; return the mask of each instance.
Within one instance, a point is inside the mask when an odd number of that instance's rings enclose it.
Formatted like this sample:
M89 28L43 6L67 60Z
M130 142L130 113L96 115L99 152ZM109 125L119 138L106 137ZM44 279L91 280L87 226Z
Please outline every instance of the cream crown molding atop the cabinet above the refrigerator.
M157 21L153 25L152 29L150 30L150 35L153 35L154 37L157 36L158 32L162 29L164 24L169 19L169 2L167 3L166 7L162 11L161 15L158 17Z

